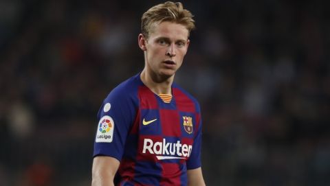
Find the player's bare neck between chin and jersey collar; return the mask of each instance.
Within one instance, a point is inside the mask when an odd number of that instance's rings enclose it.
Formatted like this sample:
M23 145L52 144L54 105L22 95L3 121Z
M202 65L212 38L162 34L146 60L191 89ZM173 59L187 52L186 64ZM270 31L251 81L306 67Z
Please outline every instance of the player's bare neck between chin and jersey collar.
M151 90L153 93L159 95L163 94L172 94L171 86L174 80L174 75L163 78L155 73L148 72L146 69L143 69L140 78L142 82Z

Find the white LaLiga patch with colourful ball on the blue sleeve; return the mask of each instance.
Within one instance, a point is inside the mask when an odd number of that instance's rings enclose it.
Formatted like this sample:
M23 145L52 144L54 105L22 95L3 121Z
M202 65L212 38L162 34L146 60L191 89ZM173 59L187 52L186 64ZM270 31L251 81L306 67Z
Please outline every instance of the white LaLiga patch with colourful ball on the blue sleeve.
M109 115L104 115L98 121L98 132L96 132L95 141L111 143L113 139L113 128L115 128L115 123Z

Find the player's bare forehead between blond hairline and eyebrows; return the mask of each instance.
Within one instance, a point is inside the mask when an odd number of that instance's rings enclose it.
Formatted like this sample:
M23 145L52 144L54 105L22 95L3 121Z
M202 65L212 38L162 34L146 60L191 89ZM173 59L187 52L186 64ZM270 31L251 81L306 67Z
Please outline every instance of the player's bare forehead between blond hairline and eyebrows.
M155 23L150 33L151 38L166 37L181 40L188 39L188 35L188 29L184 25L168 21Z

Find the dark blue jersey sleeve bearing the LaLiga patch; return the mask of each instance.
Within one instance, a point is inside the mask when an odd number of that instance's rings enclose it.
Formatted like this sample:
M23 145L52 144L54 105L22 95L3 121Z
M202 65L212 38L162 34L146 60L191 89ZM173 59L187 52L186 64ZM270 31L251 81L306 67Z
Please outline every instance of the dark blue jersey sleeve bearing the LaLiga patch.
M98 111L94 156L112 156L120 161L135 115L129 95L112 91Z

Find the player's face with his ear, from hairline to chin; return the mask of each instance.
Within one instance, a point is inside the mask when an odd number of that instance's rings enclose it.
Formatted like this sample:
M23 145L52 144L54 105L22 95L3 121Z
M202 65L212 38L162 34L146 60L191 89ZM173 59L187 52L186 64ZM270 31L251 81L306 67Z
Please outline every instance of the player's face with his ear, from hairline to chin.
M182 65L189 43L186 27L168 21L155 25L148 38L140 34L146 72L161 78L172 77Z

